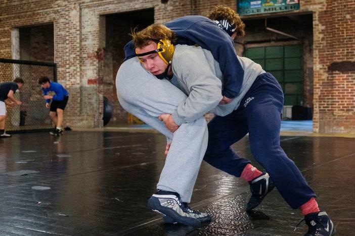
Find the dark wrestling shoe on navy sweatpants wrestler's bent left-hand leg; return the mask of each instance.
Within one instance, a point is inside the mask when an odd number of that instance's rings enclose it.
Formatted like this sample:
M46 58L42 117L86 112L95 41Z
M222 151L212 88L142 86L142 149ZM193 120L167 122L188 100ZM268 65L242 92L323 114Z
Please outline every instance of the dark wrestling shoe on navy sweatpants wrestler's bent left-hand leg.
M249 181L251 197L247 204L246 210L250 211L257 207L261 201L270 193L275 185L271 181L268 173L262 173L253 180Z

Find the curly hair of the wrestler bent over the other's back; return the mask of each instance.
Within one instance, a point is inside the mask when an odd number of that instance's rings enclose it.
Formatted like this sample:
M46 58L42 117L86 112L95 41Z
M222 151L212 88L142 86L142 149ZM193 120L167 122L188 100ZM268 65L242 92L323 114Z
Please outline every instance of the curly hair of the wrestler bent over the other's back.
M236 13L232 8L219 5L215 6L212 11L207 15L211 20L227 20L231 25L236 26L235 32L237 32L238 37L245 35L244 27L245 24L240 19L238 13Z

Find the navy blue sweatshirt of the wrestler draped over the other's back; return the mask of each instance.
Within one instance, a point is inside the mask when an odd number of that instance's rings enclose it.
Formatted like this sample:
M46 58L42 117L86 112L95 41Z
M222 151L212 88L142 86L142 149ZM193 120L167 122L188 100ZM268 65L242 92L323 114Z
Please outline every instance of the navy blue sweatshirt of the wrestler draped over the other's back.
M198 44L210 50L223 73L223 95L237 97L244 70L238 61L233 39L212 20L203 16L185 16L165 23L178 36L178 44ZM132 41L124 46L125 60L136 56Z

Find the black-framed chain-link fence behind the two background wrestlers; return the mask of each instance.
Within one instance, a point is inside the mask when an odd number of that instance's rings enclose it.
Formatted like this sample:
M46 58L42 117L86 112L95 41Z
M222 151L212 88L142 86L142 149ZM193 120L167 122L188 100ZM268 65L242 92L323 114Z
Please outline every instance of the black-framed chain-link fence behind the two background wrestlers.
M57 65L0 58L0 83L13 81L20 77L25 84L15 93L22 101L21 106L7 107L6 130L11 132L48 130L53 128L49 109L42 98L38 79L47 76L57 81Z

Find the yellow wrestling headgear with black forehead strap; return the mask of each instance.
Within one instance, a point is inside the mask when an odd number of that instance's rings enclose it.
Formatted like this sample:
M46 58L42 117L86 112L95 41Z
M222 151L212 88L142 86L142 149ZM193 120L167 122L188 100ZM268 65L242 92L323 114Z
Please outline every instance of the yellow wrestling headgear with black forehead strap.
M154 39L151 38L150 40L154 41L157 43L157 49L152 50L152 51L148 51L145 53L141 53L138 54L137 53L137 49L136 49L136 54L137 56L145 56L145 55L149 55L152 53L158 53L159 57L162 58L162 60L167 64L171 64L171 60L172 60L172 55L174 54L174 45L171 44L171 41L168 39Z

